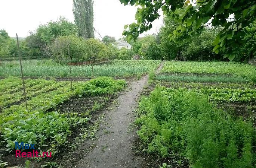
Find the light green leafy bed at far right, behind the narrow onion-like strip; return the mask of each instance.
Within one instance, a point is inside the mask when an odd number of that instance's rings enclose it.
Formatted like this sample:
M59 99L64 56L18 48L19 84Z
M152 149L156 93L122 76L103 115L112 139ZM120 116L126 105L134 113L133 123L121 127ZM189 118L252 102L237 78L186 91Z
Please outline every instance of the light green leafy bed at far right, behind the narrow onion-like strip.
M163 73L200 73L200 74L229 74L233 76L250 77L256 74L256 68L250 64L238 62L195 62L195 61L166 61Z

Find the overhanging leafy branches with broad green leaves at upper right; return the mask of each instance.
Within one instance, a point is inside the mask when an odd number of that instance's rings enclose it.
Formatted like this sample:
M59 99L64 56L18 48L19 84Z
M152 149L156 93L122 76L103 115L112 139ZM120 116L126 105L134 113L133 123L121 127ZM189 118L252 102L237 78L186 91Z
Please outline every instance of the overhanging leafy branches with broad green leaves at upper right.
M123 35L128 40L138 38L139 34L152 28L152 22L158 19L160 11L164 15L175 18L183 24L169 35L170 40L180 42L191 35L200 34L207 26L221 30L213 45L213 52L226 50L224 57L233 60L238 48L241 46L241 38L246 34L252 37L256 31L247 29L255 26L256 18L255 0L120 0L124 5L139 5L135 19L137 23L124 26Z

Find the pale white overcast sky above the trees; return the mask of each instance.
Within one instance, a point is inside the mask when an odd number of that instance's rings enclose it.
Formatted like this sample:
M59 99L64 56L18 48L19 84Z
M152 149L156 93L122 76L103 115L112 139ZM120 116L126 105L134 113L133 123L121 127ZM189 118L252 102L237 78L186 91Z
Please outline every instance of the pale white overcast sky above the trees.
M27 37L39 24L57 20L64 16L74 23L73 0L0 0L0 29L5 29L10 37ZM138 6L137 6L138 7ZM102 37L121 37L124 25L136 22L137 7L124 6L119 0L94 0L94 27ZM150 31L140 35L156 33L163 25L163 16L153 22ZM100 36L96 33L96 38Z

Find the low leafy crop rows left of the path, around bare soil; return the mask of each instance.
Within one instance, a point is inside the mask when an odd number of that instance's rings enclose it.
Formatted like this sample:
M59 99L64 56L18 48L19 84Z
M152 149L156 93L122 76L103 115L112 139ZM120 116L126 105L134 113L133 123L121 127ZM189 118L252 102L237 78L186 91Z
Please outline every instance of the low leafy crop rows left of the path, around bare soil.
M98 77L87 82L74 82L71 89L67 82L27 79L26 110L21 81L18 77L0 80L0 133L6 151L14 149L14 142L35 143L39 149L47 144L64 144L71 127L87 124L89 118L77 113L70 115L57 111L59 105L73 97L109 95L126 85L124 80Z

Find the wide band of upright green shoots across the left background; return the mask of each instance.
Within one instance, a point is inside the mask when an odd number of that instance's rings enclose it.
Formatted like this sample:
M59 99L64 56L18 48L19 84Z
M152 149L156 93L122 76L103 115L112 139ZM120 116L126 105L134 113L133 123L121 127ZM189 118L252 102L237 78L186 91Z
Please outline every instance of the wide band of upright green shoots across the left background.
M109 64L93 66L71 66L73 77L109 76L109 77L136 77L153 70L153 62L158 67L160 60L113 60ZM70 67L57 64L51 60L38 60L31 63L23 61L25 77L69 77ZM17 61L0 65L0 76L20 76L20 67Z

